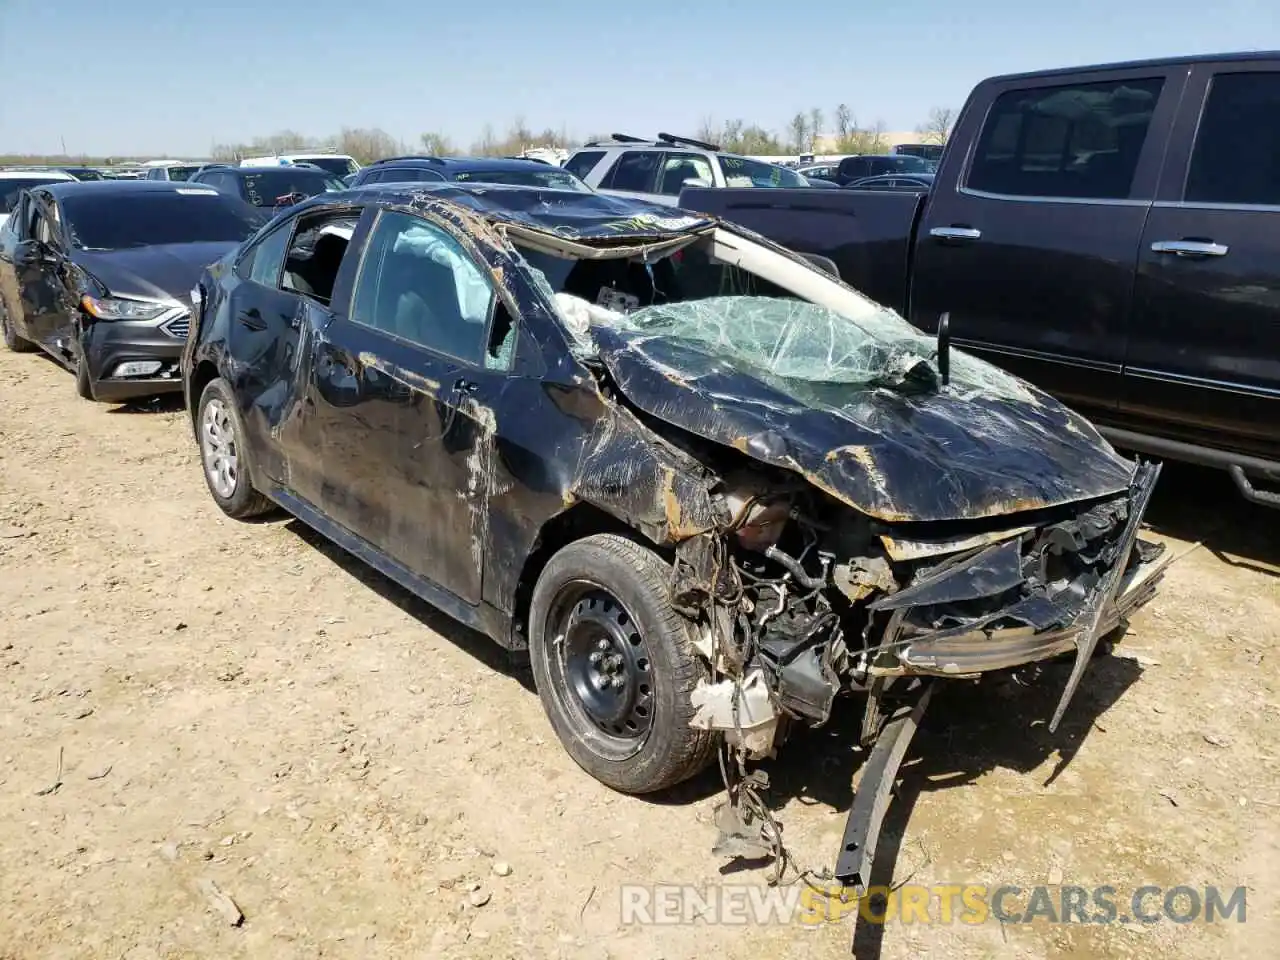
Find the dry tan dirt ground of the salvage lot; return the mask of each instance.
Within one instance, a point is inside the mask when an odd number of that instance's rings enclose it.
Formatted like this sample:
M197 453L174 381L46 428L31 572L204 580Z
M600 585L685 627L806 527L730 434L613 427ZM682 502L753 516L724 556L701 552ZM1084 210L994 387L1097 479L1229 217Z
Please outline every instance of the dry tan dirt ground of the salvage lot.
M1057 736L1065 667L936 698L878 869L1121 900L1245 884L1245 923L864 922L859 956L1277 955L1277 515L1170 467L1151 520L1201 545ZM0 957L820 960L855 938L851 918L623 925L622 884L764 886L710 852L718 774L612 794L486 640L297 521L224 518L175 404L87 403L6 352L0 684ZM805 865L835 859L859 708L771 764Z

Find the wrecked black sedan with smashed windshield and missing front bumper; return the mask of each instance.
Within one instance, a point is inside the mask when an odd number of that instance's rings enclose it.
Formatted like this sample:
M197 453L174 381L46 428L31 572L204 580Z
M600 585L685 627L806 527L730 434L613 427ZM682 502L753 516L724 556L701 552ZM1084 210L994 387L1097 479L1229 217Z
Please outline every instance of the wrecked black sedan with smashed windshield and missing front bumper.
M1056 726L1161 572L1137 536L1156 467L716 219L366 187L276 218L193 300L223 511L283 507L527 648L564 748L617 790L721 745L742 769L842 694L886 739L928 678L1075 652Z

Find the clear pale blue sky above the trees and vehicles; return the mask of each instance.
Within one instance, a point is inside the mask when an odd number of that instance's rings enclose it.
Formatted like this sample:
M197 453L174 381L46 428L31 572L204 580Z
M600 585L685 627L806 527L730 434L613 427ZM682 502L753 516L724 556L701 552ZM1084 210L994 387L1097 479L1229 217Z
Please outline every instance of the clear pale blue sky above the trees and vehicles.
M0 0L0 154L205 155L278 129L462 146L485 122L913 129L1010 70L1280 49L1280 0Z

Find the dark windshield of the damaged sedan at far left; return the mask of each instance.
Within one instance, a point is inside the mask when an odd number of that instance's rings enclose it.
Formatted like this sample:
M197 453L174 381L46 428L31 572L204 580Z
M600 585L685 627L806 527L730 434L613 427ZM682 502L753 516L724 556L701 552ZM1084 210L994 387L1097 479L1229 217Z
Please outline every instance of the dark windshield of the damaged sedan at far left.
M72 242L81 250L125 250L160 243L239 242L266 223L259 210L212 189L93 195L61 198Z

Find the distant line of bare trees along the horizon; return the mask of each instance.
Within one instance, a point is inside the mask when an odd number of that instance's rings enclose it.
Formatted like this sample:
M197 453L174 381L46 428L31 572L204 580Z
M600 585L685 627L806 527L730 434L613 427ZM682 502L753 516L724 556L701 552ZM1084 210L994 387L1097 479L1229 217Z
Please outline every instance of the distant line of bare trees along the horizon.
M955 110L934 108L928 119L915 129L927 143L945 143L955 123ZM767 129L758 123L744 119L716 122L704 118L695 136L698 140L716 143L723 150L748 155L790 155L790 154L883 154L888 150L884 137L884 124L860 125L852 110L838 105L831 114L831 124L819 108L799 111L791 118L786 129L780 132ZM672 131L678 133L680 131ZM608 134L591 137L572 137L561 127L547 127L538 131L517 118L507 129L498 133L492 124L485 124L480 136L466 145L465 152L472 156L517 156L534 147L572 148L593 140L605 140ZM430 154L449 156L463 152L463 145L452 140L442 131L429 131L419 137L416 143L406 143L378 127L343 127L329 137L307 137L298 131L278 131L266 137L255 137L247 143L216 143L210 150L211 160L234 161L244 156L268 156L303 151L333 151L347 154L361 164L404 154ZM163 157L146 157L163 159ZM0 164L58 164L79 163L105 165L120 161L108 156L0 156Z

